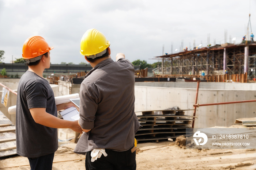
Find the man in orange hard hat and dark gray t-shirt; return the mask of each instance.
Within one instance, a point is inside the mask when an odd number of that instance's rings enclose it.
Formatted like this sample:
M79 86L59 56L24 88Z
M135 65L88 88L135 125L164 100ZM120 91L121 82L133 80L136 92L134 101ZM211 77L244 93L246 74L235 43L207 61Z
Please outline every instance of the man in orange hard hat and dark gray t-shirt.
M43 77L50 67L50 47L41 36L29 37L22 58L28 70L19 80L16 102L16 152L27 157L31 170L50 170L58 149L57 128L82 133L78 121L59 119L57 111L75 106L71 102L56 105L53 90Z

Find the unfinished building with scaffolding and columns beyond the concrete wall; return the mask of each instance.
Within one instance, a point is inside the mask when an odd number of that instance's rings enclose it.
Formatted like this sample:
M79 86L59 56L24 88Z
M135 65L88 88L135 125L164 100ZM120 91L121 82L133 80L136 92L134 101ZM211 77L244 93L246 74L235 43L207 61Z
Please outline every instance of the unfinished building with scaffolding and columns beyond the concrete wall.
M244 41L239 45L230 43L184 50L176 54L158 56L162 59L159 73L169 75L246 74L255 78L256 43Z

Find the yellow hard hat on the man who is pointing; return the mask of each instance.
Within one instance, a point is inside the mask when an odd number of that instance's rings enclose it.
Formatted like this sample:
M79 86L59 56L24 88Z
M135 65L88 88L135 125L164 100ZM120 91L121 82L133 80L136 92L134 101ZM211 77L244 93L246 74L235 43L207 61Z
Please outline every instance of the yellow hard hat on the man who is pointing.
M85 55L87 58L100 57L106 53L106 49L110 43L105 35L96 29L87 30L80 42L80 54Z

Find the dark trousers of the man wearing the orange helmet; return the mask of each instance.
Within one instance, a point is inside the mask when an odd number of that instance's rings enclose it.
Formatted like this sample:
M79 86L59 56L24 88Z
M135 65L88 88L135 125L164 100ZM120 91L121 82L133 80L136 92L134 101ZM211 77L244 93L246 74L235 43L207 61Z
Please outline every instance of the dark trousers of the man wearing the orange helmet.
M52 170L54 153L38 158L28 158L30 170Z

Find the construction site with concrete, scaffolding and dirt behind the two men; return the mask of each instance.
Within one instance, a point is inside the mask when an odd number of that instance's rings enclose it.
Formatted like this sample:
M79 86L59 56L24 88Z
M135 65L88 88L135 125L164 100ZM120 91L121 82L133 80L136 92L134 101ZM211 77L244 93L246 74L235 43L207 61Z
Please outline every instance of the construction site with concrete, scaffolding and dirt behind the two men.
M255 170L256 43L200 45L154 58L161 66L152 73L135 66L135 113L142 125L135 134L137 169ZM29 170L27 158L16 153L15 136L17 88L27 66L1 63L3 68L12 77L0 78L0 170ZM58 97L79 97L80 84L90 69L54 65L43 76L57 101ZM58 117L63 119L60 112ZM246 142L251 147L189 149L188 131L203 128L250 129L254 134ZM78 139L78 133L58 129L54 170L85 169L85 155L73 152Z

